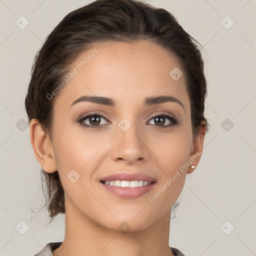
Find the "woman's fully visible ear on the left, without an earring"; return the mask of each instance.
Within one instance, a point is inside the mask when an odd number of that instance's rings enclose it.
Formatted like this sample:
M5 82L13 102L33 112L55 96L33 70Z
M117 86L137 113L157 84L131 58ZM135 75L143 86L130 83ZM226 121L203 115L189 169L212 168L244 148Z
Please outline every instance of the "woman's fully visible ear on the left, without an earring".
M49 173L56 171L57 167L53 154L53 146L49 135L43 131L36 118L31 119L29 130L34 155L42 169Z

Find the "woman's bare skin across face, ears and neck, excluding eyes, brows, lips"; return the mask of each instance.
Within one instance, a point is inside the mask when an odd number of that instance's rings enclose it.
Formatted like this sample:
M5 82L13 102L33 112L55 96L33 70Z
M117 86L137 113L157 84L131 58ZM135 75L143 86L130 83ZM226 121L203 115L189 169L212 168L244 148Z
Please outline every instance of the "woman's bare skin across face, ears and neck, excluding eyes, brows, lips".
M56 96L52 140L38 120L30 122L35 157L46 172L58 170L65 196L65 237L53 256L79 255L173 255L169 249L171 205L185 181L184 172L154 202L156 193L183 163L202 152L205 122L192 139L189 98L182 75L174 80L169 72L182 68L163 47L149 42L105 42L99 52ZM75 63L94 48L84 52ZM73 65L75 67L75 65ZM184 73L184 72L183 72ZM92 102L71 103L82 95L105 96L116 106ZM144 105L144 98L171 95L176 102ZM99 128L82 127L77 119L90 111L104 116ZM176 125L157 128L152 116L169 113ZM118 123L126 118L127 131ZM86 124L91 124L87 119ZM164 125L171 121L165 118ZM92 124L91 124L92 125ZM161 124L163 125L163 124ZM197 166L200 156L193 161ZM67 174L75 169L80 178L72 183ZM117 172L142 172L156 178L149 193L123 199L107 192L99 179ZM118 226L126 221L130 230ZM97 253L97 254L95 254Z

